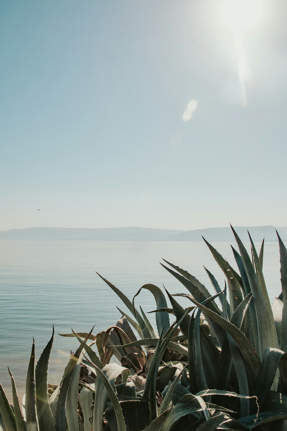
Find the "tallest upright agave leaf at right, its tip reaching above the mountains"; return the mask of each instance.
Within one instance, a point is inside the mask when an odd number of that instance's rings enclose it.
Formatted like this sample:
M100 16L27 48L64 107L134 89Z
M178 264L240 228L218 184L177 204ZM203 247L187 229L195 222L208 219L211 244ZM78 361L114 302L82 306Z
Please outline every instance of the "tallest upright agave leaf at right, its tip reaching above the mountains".
M257 327L258 327L258 341L259 341L258 354L259 354L259 357L262 358L263 353L267 347L275 347L275 348L278 347L275 323L271 312L271 307L269 310L267 303L265 302L265 298L262 293L256 272L253 269L252 263L250 261L250 257L247 253L247 250L245 249L240 238L238 237L238 234L235 232L232 226L231 226L231 229L234 233L239 251L241 253L242 262L244 264L244 268L247 273L250 289L252 291L252 296L254 299L256 317L257 317Z

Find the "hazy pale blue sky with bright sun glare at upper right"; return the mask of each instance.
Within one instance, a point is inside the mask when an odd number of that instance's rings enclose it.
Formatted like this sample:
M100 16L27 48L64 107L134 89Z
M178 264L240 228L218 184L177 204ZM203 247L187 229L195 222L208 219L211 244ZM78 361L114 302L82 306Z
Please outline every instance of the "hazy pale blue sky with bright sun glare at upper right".
M286 18L2 0L0 230L287 226Z

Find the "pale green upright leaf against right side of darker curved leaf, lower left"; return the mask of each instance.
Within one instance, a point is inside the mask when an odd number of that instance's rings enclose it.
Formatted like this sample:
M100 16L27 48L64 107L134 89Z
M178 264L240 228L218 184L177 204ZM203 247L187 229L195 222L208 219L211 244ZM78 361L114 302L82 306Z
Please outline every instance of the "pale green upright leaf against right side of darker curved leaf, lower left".
M78 386L83 352L80 353L77 365L71 376L66 400L66 419L69 431L78 431Z

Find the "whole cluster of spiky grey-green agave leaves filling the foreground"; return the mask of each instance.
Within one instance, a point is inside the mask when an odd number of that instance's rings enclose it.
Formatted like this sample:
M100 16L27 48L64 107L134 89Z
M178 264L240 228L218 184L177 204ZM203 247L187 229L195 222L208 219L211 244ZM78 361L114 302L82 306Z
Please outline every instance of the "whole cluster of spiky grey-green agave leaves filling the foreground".
M163 265L186 294L145 284L156 302L157 331L145 312L102 278L129 314L93 335L72 333L79 347L58 387L48 384L51 339L35 365L34 343L21 406L0 386L6 431L285 430L287 424L287 249L278 236L282 291L270 304L262 274L264 240L251 258L233 230L238 270L206 242L227 283L212 296L194 276ZM175 297L191 301L184 309ZM170 319L175 320L170 325ZM285 330L284 330L285 328ZM112 358L115 358L111 361ZM24 416L23 416L24 413Z

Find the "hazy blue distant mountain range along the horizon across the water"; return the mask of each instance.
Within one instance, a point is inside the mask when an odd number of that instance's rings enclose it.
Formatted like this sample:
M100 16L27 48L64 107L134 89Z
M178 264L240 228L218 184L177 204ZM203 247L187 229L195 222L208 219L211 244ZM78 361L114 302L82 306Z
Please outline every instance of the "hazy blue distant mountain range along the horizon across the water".
M277 240L274 226L235 226L241 240L248 241L247 229L253 241ZM282 240L287 240L287 227L276 228ZM119 241L207 241L234 242L231 228L208 228L176 231L152 228L26 228L0 231L0 239L13 240L119 240Z

